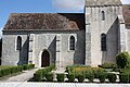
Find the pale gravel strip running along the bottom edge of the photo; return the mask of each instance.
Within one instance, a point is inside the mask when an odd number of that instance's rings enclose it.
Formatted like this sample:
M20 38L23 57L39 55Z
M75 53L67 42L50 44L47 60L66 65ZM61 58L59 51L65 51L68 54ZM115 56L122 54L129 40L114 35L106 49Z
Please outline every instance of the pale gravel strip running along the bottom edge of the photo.
M130 87L130 84L87 83L0 83L0 87Z

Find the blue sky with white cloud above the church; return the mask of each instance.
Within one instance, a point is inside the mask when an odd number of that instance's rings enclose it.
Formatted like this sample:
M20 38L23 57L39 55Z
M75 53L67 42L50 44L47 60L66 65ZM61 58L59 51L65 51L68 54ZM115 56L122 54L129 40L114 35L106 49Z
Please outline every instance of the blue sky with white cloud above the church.
M1 0L0 37L10 13L78 13L83 12L84 0ZM130 0L122 0L123 4Z

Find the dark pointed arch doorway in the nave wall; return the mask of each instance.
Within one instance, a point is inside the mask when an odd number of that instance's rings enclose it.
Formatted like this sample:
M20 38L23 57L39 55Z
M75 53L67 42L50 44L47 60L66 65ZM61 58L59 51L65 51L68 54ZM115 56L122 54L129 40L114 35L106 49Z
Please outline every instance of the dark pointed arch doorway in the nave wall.
M50 65L50 53L48 50L44 50L41 54L41 67Z

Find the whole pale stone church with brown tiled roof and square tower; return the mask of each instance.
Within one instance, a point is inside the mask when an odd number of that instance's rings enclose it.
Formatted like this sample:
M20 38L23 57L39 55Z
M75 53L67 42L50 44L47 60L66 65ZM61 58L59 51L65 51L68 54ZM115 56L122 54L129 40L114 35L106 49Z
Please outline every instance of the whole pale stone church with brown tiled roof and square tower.
M84 13L12 13L2 32L2 65L114 63L130 52L130 5L86 0Z

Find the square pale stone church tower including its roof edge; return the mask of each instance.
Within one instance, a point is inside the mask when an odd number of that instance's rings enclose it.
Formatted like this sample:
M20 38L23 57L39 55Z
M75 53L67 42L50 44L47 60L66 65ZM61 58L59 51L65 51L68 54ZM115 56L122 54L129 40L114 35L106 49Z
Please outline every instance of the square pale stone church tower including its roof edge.
M86 0L86 65L115 62L123 40L120 0ZM123 46L123 45L122 45Z

